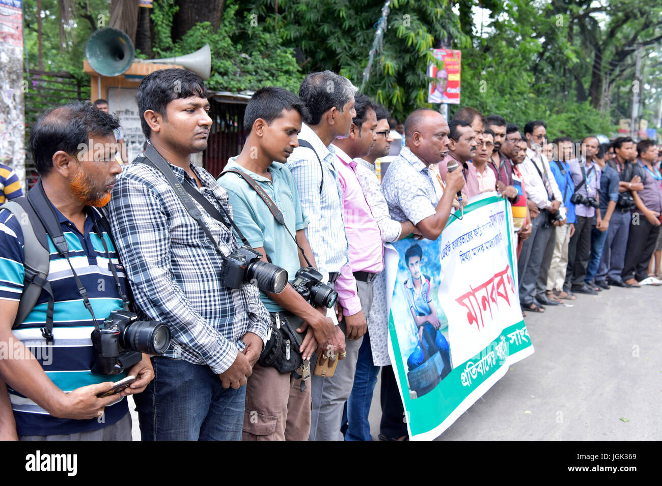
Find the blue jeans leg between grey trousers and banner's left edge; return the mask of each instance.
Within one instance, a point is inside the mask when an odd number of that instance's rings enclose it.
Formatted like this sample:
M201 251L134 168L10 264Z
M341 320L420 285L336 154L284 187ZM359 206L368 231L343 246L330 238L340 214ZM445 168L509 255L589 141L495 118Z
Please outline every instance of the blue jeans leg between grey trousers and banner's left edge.
M341 432L344 432L345 440L372 440L368 413L379 368L373 364L370 336L365 333L359 348L359 358L356 360L352 393L345 403L345 411L342 415Z

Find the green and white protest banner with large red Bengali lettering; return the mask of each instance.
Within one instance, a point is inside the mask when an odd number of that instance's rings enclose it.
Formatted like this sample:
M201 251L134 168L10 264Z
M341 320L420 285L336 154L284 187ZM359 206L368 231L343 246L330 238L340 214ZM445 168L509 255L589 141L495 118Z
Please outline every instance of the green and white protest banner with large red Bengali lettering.
M451 215L436 241L387 245L389 354L412 440L439 436L534 352L515 247L510 204L493 192Z

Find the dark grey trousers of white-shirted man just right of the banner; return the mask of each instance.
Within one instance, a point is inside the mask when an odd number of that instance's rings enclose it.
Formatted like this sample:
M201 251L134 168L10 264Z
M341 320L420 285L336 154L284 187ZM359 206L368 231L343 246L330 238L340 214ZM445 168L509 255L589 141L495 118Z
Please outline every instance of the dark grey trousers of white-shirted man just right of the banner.
M531 236L522 244L522 253L517 263L520 277L520 303L532 304L536 296L538 273L545 257L545 249L549 238L555 235L553 226L549 225L547 210L540 211L532 223Z

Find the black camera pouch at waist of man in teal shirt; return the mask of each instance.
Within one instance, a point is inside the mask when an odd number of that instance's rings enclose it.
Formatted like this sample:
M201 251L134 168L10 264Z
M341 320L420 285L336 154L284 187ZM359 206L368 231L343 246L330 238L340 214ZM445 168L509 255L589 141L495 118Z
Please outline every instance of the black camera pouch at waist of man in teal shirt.
M303 365L299 348L305 333L296 329L303 319L290 312L271 313L269 339L260 354L258 362L262 366L273 366L279 373L291 373Z

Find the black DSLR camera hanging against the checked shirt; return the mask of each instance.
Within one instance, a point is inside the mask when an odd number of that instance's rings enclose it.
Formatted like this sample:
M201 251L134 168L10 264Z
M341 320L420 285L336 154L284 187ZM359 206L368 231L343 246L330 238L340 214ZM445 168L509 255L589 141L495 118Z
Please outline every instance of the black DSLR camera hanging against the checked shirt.
M259 251L246 245L228 255L221 268L223 284L236 289L242 288L244 284L254 284L263 292L283 292L287 285L287 270L260 261L261 257Z

